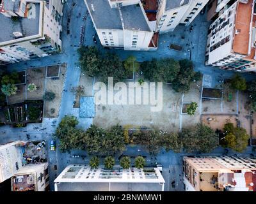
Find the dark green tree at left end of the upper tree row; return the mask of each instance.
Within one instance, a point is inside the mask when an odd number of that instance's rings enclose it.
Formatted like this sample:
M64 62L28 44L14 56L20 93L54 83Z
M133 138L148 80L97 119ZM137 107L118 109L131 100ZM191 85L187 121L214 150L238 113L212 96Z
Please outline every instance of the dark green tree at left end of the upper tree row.
M102 59L97 47L80 47L77 49L79 54L79 64L81 71L89 77L95 77L100 73Z

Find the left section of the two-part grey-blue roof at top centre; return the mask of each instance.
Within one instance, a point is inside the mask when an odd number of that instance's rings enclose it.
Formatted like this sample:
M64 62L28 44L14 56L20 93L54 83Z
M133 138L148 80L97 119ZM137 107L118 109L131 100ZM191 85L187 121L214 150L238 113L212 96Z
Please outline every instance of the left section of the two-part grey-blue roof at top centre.
M86 0L97 29L123 29L118 8L111 8L108 0Z

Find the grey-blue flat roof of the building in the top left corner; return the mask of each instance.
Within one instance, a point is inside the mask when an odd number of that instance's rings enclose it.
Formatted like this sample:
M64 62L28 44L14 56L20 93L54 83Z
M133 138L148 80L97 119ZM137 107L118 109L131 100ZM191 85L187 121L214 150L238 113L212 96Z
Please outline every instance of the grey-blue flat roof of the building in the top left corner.
M12 18L6 17L0 13L0 30L2 31L0 34L0 43L17 39L13 35L13 32L19 32L23 34L23 36L19 39L39 34L40 3L38 2L33 4L35 4L36 9L35 18L20 17L19 21L13 21ZM27 13L28 9L26 8L26 14Z

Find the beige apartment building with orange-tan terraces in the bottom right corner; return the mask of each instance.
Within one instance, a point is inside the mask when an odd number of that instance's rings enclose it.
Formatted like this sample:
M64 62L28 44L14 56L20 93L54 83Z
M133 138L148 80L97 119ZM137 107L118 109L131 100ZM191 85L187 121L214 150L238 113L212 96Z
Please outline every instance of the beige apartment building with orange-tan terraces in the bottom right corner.
M184 157L186 191L256 191L256 159Z

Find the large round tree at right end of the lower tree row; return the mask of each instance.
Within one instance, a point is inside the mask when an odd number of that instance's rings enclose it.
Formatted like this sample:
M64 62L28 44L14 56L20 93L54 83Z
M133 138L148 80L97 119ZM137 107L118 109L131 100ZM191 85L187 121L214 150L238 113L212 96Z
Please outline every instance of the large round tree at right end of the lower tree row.
M218 146L218 135L204 124L182 129L181 136L187 152L211 152Z

